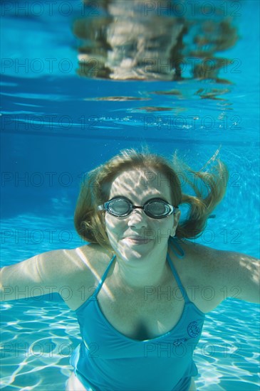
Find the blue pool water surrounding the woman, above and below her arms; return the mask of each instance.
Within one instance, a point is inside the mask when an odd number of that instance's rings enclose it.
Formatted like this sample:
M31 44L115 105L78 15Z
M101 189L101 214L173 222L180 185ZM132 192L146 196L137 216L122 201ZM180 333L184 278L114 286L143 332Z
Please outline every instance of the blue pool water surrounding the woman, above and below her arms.
M195 169L220 149L227 195L196 241L259 257L259 1L197 1L198 14L189 1L146 2L154 12L167 4L165 18L182 5L191 23L173 81L79 75L76 21L98 21L103 2L50 3L1 3L1 266L83 245L73 227L83 173L141 145L177 149ZM217 50L217 78L195 77L192 29L222 17L236 42ZM17 294L1 304L1 388L64 390L76 317L56 295ZM208 314L194 360L198 390L259 390L259 306L228 299Z

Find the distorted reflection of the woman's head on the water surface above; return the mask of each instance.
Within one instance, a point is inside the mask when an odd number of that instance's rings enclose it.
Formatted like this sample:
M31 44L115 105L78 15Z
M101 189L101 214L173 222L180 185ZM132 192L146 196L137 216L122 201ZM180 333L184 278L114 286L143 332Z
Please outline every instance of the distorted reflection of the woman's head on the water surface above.
M87 16L73 23L79 38L78 75L112 80L194 77L229 83L219 78L219 70L239 64L219 53L235 45L234 18L239 13L227 13L216 1L190 3L85 0Z

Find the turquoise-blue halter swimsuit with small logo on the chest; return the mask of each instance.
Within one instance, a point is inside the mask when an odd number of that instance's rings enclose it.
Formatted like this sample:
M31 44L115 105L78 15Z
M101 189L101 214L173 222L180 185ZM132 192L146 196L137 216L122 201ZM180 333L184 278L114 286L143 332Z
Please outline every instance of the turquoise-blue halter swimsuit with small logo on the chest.
M75 374L87 390L95 391L187 391L197 375L192 360L202 333L204 314L191 302L170 264L184 298L182 316L171 331L137 341L117 331L98 306L97 295L115 256L90 298L77 310L83 341L71 357Z

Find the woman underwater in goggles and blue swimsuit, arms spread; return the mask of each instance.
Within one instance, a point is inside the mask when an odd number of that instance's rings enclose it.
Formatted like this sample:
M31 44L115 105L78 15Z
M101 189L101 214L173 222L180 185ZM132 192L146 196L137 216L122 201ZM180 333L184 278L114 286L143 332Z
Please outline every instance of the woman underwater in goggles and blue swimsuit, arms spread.
M239 299L259 303L257 259L189 240L222 200L226 166L189 171L194 195L182 193L176 168L156 154L122 151L90 171L81 188L74 220L90 244L1 270L3 292L36 285L46 294L49 286L73 292L66 304L82 341L66 390L196 390L192 355L205 314L234 286ZM179 223L182 204L189 213ZM200 293L205 286L214 291L210 301Z

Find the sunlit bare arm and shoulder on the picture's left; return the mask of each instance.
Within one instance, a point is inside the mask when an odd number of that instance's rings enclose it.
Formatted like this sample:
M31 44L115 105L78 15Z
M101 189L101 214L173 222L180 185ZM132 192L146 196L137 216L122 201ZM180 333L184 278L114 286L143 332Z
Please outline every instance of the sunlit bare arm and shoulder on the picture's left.
M108 264L110 254L98 245L43 252L1 269L1 300L58 292L72 309L78 306L80 289L94 286ZM19 298L23 298L19 295Z

